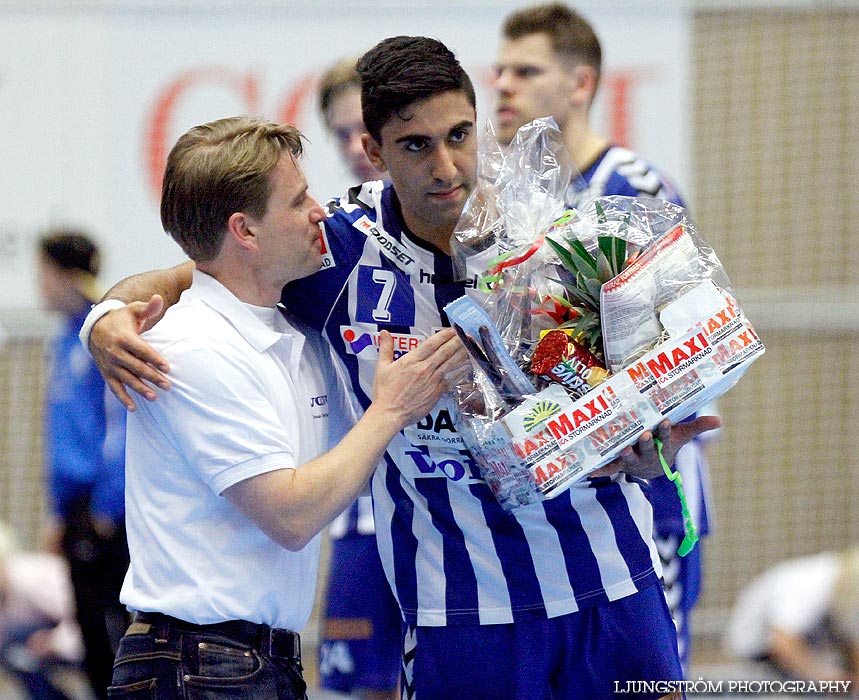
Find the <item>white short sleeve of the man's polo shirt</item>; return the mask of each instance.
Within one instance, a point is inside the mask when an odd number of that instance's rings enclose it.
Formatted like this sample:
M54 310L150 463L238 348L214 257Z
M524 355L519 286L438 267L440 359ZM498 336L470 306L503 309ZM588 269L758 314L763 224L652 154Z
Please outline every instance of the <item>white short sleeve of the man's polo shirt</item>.
M185 352L176 344L169 357L172 386L141 406L149 414L141 415L142 429L150 439L169 440L213 493L298 466L271 388L246 355L224 345Z

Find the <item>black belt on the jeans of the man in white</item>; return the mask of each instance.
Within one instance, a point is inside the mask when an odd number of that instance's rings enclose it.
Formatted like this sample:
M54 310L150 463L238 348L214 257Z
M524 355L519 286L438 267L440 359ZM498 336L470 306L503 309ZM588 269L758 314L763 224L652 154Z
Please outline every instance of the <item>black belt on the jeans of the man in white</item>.
M239 644L249 646L261 654L301 662L301 637L290 630L269 627L247 620L228 620L212 625L198 625L170 615L153 612L135 613L134 622L152 625L159 629L163 628L165 634L169 634L170 629L219 634Z

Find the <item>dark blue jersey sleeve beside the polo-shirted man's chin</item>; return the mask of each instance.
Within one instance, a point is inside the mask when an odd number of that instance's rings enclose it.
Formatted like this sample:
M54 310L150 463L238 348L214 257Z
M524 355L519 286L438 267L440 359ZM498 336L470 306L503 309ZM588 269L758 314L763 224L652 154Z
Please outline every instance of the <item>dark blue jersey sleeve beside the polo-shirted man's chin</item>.
M283 288L281 302L298 319L322 331L361 257L363 234L342 209L335 209L323 228L322 269Z

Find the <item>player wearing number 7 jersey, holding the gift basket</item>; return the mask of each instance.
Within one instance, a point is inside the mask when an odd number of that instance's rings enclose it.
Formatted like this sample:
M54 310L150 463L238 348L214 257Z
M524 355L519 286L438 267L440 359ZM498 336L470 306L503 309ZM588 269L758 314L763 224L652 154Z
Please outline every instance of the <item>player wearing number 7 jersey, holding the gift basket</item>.
M424 37L386 39L358 64L365 150L390 183L365 183L329 203L330 259L282 300L322 329L362 406L372 398L382 329L402 350L447 325L444 306L476 294L490 245L453 275L450 239L476 179L471 81ZM185 265L121 283L109 296L175 297ZM181 285L179 285L181 286ZM96 308L95 320L105 307ZM119 396L147 398L163 359L136 337L157 309L138 301L94 328L94 354ZM86 342L86 340L84 341ZM443 398L389 445L372 479L379 552L406 621L403 693L599 700L615 681L681 677L659 585L652 510L638 479L661 474L653 434L609 467L542 504L504 511L480 477ZM717 419L656 429L666 458ZM625 471L619 471L625 470Z

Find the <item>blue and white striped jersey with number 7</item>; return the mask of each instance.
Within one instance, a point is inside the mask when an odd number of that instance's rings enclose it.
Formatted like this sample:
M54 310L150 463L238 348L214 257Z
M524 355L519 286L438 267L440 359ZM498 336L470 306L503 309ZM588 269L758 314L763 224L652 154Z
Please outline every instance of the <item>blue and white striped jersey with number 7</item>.
M284 303L323 330L359 402L372 398L378 334L405 352L447 326L443 307L475 293L494 247L454 279L449 255L405 227L390 184L329 203L323 269L284 289ZM502 510L442 400L391 443L372 481L376 536L411 625L497 624L555 617L635 593L657 579L652 511L623 476L577 484L554 500Z

